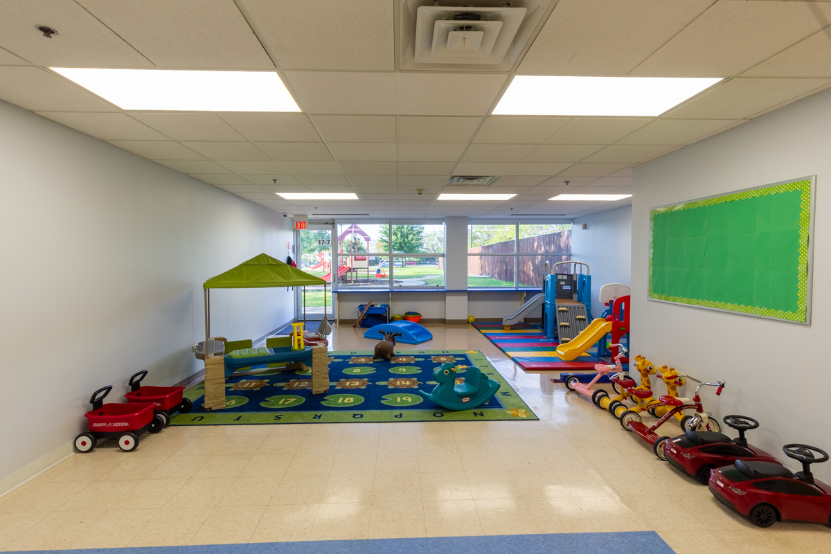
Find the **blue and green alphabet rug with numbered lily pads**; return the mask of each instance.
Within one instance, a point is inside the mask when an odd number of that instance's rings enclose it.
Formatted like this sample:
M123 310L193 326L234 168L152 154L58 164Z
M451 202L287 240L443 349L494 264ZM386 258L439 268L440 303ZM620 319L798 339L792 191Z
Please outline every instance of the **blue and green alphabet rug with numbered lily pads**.
M418 395L436 383L433 370L456 365L456 383L476 365L501 385L475 409L453 411ZM265 366L263 366L264 368ZM256 370L256 366L254 366ZM174 425L380 423L395 421L498 421L538 419L502 375L479 351L400 351L392 360L372 360L371 351L329 352L329 390L312 395L311 373L268 371L225 380L225 409L206 412L204 384L184 391L194 403L189 414L176 414Z

